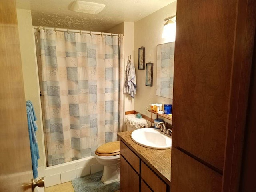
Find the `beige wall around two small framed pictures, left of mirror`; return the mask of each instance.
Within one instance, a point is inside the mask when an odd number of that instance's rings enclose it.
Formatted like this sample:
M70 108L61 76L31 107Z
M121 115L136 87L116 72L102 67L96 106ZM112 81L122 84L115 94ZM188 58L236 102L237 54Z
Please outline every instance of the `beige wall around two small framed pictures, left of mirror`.
M164 19L176 14L176 2L146 16L134 23L134 64L136 68L137 93L135 96L135 111L150 116L145 111L150 103L172 104L172 99L156 96L156 45L167 43L162 39ZM138 70L138 48L145 47L145 70ZM153 86L145 86L146 63L153 66ZM153 116L154 118L156 116Z

